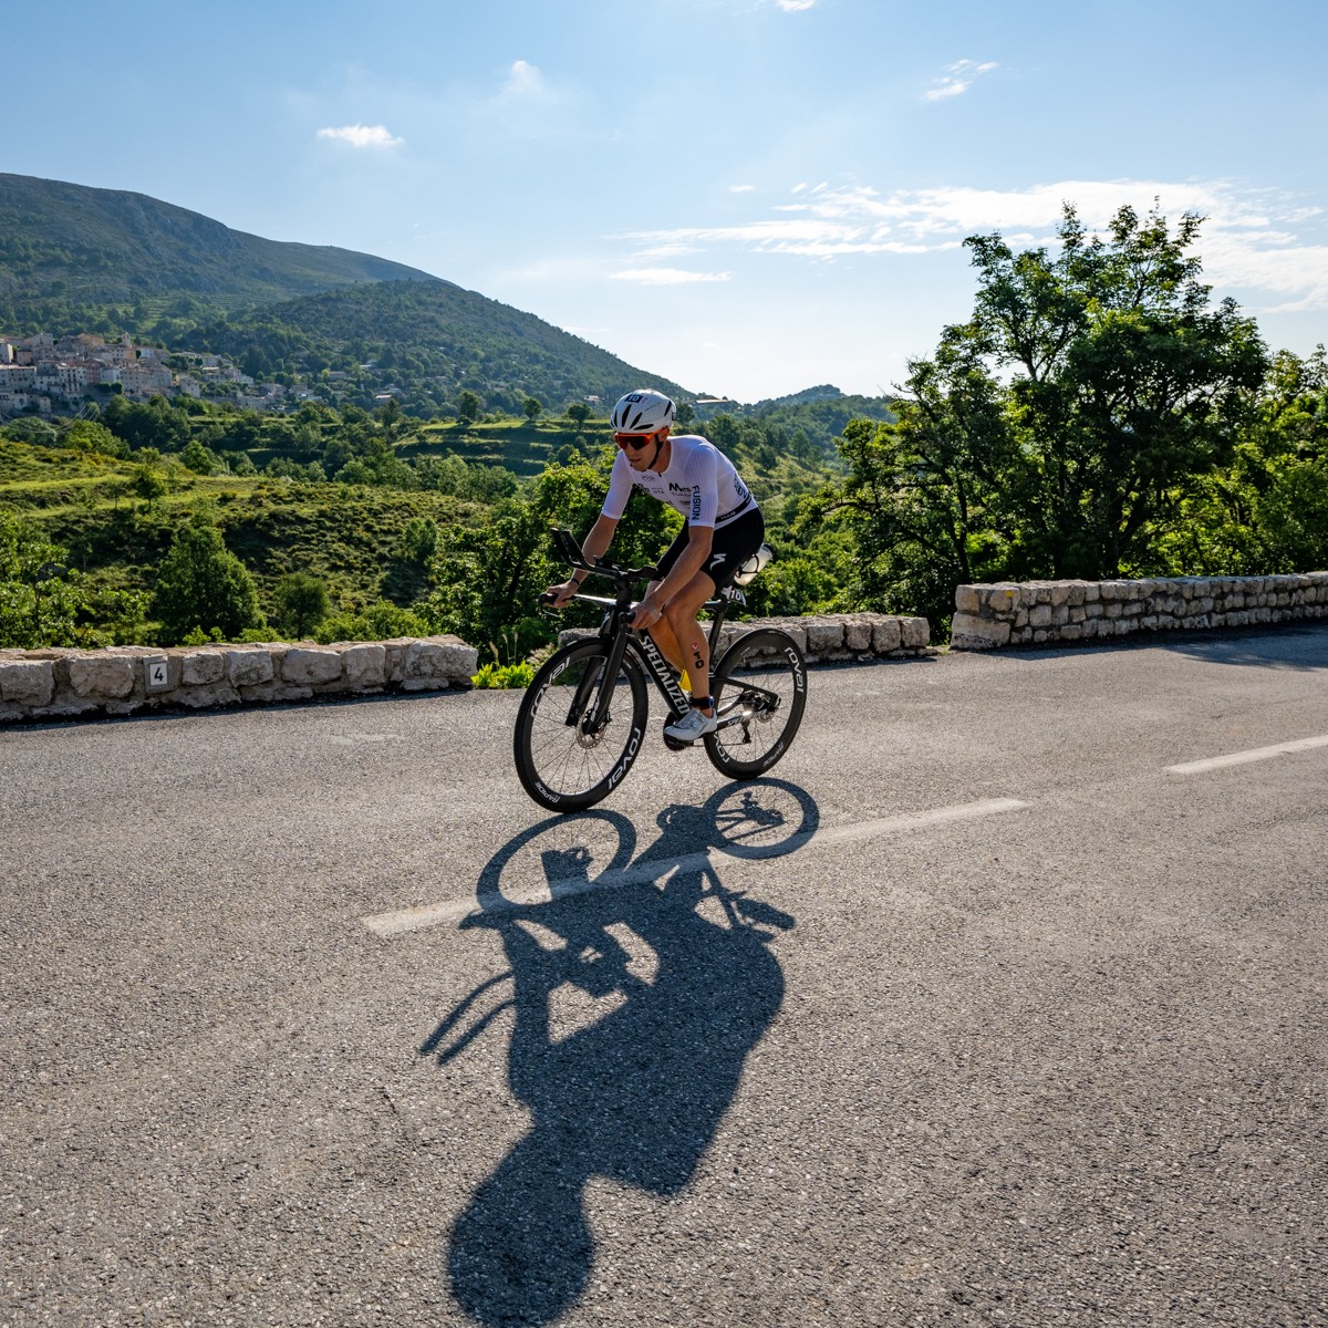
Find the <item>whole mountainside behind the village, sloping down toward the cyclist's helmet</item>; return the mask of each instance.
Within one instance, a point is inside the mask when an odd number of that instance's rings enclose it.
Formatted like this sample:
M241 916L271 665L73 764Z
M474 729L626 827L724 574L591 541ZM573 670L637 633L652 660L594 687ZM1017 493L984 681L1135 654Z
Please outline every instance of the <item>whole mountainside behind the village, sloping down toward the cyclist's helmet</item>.
M470 389L519 413L676 382L417 268L268 240L143 194L0 174L0 332L130 332L230 355L254 377L315 382L372 405L445 410ZM324 380L325 381L325 380ZM328 392L331 394L331 388Z

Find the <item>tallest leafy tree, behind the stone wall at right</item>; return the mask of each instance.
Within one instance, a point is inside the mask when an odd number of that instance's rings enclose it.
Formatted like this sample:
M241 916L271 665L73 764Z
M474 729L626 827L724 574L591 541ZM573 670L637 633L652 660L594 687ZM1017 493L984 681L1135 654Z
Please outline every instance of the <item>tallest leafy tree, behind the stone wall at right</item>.
M965 244L977 301L973 352L1009 374L1019 441L1038 471L1025 538L1044 574L1117 575L1147 556L1151 523L1194 477L1230 454L1266 353L1231 300L1210 307L1186 251L1201 218L1173 234L1130 207L1106 238L1065 207L1060 252L1015 254L999 234Z

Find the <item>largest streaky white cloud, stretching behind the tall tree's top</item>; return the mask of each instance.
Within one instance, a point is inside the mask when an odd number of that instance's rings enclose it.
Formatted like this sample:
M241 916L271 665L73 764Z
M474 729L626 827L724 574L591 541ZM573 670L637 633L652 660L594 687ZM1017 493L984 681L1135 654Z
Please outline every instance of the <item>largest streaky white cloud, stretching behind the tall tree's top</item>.
M1070 179L1023 190L950 186L890 194L861 185L815 190L799 185L791 195L793 201L749 222L640 231L622 239L636 247L639 258L737 248L834 262L955 250L965 236L989 231L1000 231L1016 247L1054 244L1066 202L1074 205L1085 226L1101 231L1122 205L1145 215L1158 201L1173 222L1186 211L1206 218L1198 251L1215 286L1254 292L1259 307L1268 311L1328 308L1328 243L1320 234L1324 215L1300 201L1226 181ZM728 276L725 272L721 279ZM714 278L659 278L665 279Z

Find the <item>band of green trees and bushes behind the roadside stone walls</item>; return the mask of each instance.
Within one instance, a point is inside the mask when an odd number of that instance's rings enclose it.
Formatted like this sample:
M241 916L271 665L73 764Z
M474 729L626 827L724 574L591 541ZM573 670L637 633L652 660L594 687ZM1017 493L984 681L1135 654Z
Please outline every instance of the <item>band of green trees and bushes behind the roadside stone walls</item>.
M680 424L733 457L776 560L752 614L923 614L963 582L1328 567L1328 363L1270 353L1215 303L1175 228L1066 210L1054 248L968 240L972 317L891 400L831 388ZM481 685L563 624L551 523L580 535L607 487L607 422L461 388L256 414L110 396L93 418L0 430L0 647L363 640L456 632ZM633 501L615 556L648 562L676 517ZM517 669L517 672L514 672ZM502 680L502 683L499 681Z

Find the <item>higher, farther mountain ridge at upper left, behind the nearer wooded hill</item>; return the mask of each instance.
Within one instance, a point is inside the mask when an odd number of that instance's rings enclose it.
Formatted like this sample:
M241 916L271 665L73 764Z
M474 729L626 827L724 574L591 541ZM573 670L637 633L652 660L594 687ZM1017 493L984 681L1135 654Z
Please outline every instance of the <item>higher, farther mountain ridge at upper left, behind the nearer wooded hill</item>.
M232 231L146 194L0 174L5 303L117 304L187 293L235 307L359 282L438 280L371 254Z

